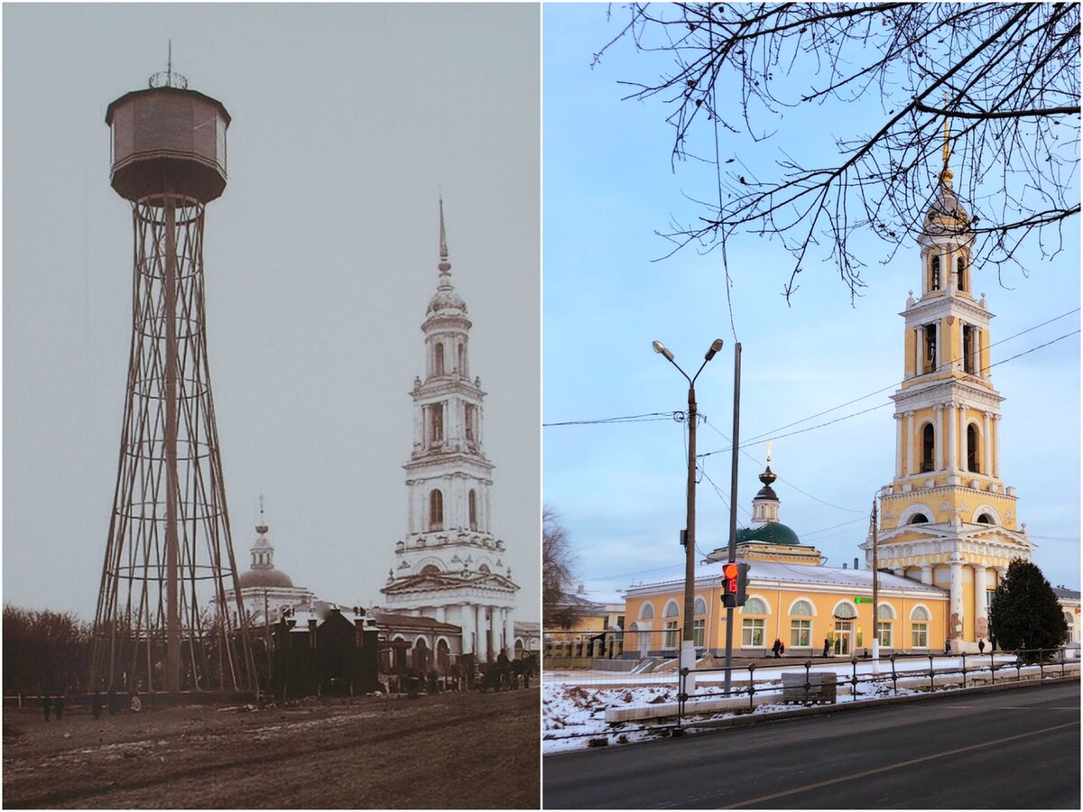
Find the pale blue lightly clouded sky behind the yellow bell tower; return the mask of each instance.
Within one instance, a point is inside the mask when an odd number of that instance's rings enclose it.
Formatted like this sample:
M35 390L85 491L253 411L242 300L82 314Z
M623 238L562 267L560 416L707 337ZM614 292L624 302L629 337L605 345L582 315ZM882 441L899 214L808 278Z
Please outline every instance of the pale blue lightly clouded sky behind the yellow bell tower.
M851 305L833 266L810 264L790 305L781 292L791 259L777 241L744 237L729 253L734 285L729 311L718 252L669 250L655 232L670 219L697 217L690 198L714 185L714 169L670 166L671 130L657 102L621 101L621 80L650 80L665 62L621 41L591 67L619 30L604 4L549 4L544 15L544 387L546 423L598 420L684 408L677 370L651 351L660 340L692 372L715 338L726 345L696 384L701 453L728 447L732 428L733 343L742 354L742 444L780 435L862 409L864 415L778 437L772 469L781 519L827 563L852 565L867 532L874 492L890 482L895 421L888 396L902 376L908 291L917 288L913 241L886 264L883 244L854 243L866 257L869 287ZM614 9L616 6L613 6ZM866 131L883 119L878 104L787 112L777 139L756 146L723 143L759 176L771 176L782 147L826 163L832 136ZM845 126L845 131L833 129ZM739 152L735 152L739 150ZM936 167L930 171L935 172ZM956 185L961 168L954 167ZM1079 224L1066 231L1068 250L1053 261L1020 257L1026 273L977 269L975 288L995 314L992 340L1006 339L1080 303ZM984 272L983 272L984 271ZM1003 361L1079 329L1072 313L993 348ZM1001 475L1016 486L1019 518L1039 545L1036 563L1053 584L1079 588L1080 355L1072 336L996 366L1002 405ZM815 412L887 391L791 429ZM766 440L766 437L765 437ZM562 516L589 589L616 592L636 581L678 577L684 525L684 427L673 420L543 429L543 492ZM766 449L741 457L739 525ZM699 487L697 547L727 542L730 455L705 460ZM717 485L719 494L715 486ZM863 558L863 556L862 556ZM862 564L863 565L863 564Z

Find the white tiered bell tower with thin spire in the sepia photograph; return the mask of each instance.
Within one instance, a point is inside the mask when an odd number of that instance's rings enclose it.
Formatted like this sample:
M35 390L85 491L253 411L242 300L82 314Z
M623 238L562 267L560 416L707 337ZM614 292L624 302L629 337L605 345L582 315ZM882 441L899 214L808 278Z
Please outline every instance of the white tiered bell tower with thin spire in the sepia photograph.
M436 291L429 301L425 379L414 380L414 448L406 463L407 532L380 589L388 612L461 629L460 651L478 660L514 655L519 587L492 527L494 466L483 445L481 379L470 377L466 302L452 285L440 202Z

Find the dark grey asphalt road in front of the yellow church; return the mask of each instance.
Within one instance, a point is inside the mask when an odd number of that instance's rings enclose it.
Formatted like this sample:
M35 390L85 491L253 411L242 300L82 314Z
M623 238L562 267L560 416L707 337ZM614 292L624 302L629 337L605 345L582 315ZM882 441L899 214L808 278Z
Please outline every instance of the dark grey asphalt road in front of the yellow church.
M1080 809L1080 683L543 759L546 809Z

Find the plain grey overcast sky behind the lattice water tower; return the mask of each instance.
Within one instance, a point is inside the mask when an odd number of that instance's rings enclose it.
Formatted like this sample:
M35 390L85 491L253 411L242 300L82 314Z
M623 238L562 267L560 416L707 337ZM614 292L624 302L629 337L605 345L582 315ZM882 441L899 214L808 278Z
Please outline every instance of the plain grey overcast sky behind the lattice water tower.
M238 564L263 495L296 585L382 598L442 191L493 527L519 617L538 619L538 22L536 5L4 6L4 601L93 616L131 338L105 109L165 70L171 39L174 70L233 117L204 259Z

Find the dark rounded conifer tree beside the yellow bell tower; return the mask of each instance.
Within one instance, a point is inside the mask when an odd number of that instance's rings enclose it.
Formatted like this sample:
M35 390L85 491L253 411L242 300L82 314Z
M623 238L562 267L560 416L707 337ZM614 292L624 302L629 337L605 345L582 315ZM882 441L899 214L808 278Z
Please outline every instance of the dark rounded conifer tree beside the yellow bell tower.
M1068 638L1068 624L1049 581L1038 565L1016 559L996 587L989 607L989 625L996 645L1017 649L1056 649ZM1036 653L1028 655L1035 659Z

